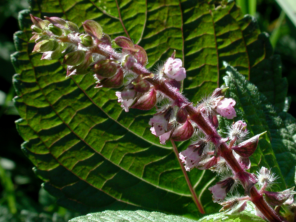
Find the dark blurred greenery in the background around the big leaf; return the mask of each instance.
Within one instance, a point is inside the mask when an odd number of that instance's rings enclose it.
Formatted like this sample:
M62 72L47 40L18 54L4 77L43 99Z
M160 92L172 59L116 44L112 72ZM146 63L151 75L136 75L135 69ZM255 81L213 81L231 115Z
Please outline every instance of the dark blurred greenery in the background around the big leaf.
M261 31L271 35L275 54L280 54L282 58L282 75L289 83L288 95L292 99L289 113L295 117L294 23L287 17L287 11L282 10L283 5L279 6L275 0L237 0L237 4L245 14L251 14L258 20ZM23 140L14 123L19 116L12 104L15 96L12 75L15 70L10 62L10 54L15 52L13 33L19 30L18 12L28 7L27 0L0 0L0 222L68 221L79 214L59 207L55 198L41 188L42 181L34 175L33 164L21 151Z

